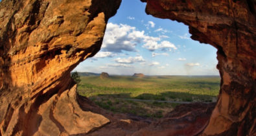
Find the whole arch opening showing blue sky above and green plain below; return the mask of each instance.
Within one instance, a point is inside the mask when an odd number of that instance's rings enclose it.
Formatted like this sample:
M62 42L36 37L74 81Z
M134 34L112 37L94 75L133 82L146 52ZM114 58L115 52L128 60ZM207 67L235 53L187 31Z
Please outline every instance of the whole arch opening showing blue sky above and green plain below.
M216 102L216 49L191 40L183 23L147 16L141 7L145 3L122 1L101 50L74 70L78 94L114 113L151 119L180 104Z

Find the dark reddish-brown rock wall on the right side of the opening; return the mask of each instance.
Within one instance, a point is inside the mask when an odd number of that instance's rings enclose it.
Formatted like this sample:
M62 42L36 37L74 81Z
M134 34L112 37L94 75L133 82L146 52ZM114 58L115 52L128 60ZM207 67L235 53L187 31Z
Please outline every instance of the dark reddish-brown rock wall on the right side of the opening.
M141 1L147 14L185 23L193 40L218 49L220 95L203 135L255 135L256 2Z

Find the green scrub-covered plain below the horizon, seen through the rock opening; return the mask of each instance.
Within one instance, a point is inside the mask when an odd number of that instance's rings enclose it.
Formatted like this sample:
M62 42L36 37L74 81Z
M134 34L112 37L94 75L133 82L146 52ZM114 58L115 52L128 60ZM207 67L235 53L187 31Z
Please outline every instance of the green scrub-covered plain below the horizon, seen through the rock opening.
M159 118L178 102L212 102L219 86L218 76L82 76L78 93L113 112Z

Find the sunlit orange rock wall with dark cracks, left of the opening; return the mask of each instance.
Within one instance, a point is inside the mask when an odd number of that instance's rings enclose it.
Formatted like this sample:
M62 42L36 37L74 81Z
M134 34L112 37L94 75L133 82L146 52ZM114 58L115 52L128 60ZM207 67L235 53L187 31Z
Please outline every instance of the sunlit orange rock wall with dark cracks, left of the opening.
M109 122L76 104L70 72L100 50L106 23L120 4L1 1L0 135L75 135Z

